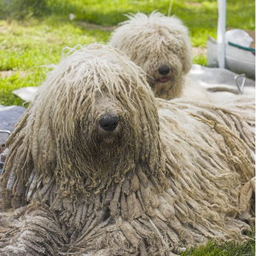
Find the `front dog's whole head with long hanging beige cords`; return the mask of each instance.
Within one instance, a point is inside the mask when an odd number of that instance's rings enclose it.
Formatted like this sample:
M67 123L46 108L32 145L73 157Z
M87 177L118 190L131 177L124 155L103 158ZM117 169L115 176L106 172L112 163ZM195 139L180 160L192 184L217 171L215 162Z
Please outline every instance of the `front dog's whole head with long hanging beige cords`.
M83 175L95 186L102 177L128 172L138 160L154 168L160 155L159 118L143 70L118 49L101 44L72 50L18 124L15 132L25 136L14 133L9 139L11 152L19 139L32 155L32 162L23 159L26 167L19 168L33 168L38 177L55 172L61 181ZM13 164L9 160L6 168Z

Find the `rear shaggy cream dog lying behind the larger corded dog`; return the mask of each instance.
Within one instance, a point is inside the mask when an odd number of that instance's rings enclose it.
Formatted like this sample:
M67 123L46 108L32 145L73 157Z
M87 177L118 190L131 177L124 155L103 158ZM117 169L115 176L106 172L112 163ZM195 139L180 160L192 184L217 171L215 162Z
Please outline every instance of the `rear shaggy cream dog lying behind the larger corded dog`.
M123 51L143 68L155 97L170 100L182 96L214 103L254 97L252 87L245 88L243 95L237 96L234 87L202 84L188 75L192 67L192 47L189 31L181 20L156 12L149 16L142 13L127 16L129 20L120 23L108 44Z

